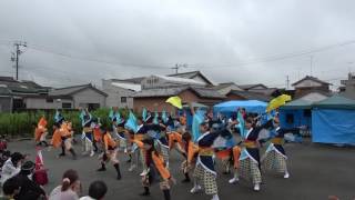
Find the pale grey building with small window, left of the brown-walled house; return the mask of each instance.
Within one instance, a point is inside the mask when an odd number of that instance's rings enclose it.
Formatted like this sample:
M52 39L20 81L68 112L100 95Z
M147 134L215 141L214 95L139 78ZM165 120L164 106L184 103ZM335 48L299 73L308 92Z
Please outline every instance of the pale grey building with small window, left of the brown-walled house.
M103 79L102 91L108 94L105 106L133 109L132 96L141 88L141 82L135 80Z

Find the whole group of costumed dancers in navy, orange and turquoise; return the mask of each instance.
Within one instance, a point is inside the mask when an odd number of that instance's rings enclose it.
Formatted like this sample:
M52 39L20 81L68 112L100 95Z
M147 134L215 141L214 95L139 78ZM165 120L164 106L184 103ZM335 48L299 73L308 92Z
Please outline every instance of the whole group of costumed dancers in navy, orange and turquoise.
M221 160L223 173L233 171L229 181L231 184L242 178L248 180L255 191L261 190L262 174L267 171L280 172L285 179L290 177L283 148L284 136L297 134L300 128L281 128L277 112L253 116L239 108L230 119L194 108L191 108L191 112L192 127L187 130L185 113L173 118L165 111L158 113L143 109L142 116L135 117L130 112L124 119L113 108L108 116L111 124L102 127L100 119L82 109L82 153L90 157L99 154L101 167L98 171L105 171L106 164L111 162L116 171L116 179L121 180L118 154L122 152L131 163L129 171L142 166L140 176L144 190L141 196L150 196L150 187L159 182L165 200L171 199L170 189L176 182L170 172L171 151L178 151L183 158L182 182L193 183L191 193L204 190L212 200L220 199L216 183L217 159ZM49 146L45 142L45 127L47 120L43 117L36 128L38 146ZM70 152L77 159L72 146L72 124L59 111L55 113L53 128L51 147L61 149L59 157ZM268 147L261 157L263 143Z

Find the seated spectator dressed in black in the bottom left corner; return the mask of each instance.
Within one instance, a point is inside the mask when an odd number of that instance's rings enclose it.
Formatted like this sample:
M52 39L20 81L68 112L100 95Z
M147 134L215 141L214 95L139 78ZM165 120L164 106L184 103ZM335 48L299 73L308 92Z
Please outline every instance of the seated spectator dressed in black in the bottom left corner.
M34 162L26 161L21 166L21 171L14 178L20 183L20 192L16 196L17 200L40 199L45 198L45 191L37 184L30 177L34 173Z

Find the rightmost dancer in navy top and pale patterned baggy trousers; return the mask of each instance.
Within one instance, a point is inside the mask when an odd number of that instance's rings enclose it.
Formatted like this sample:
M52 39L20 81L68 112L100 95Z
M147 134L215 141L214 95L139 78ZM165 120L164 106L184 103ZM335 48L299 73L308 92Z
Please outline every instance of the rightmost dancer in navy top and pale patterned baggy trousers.
M287 156L283 144L285 143L284 136L288 132L300 132L300 128L285 129L280 127L278 118L274 118L274 132L275 136L271 139L271 142L262 158L262 164L265 170L274 170L278 173L283 173L285 179L290 178L287 170Z

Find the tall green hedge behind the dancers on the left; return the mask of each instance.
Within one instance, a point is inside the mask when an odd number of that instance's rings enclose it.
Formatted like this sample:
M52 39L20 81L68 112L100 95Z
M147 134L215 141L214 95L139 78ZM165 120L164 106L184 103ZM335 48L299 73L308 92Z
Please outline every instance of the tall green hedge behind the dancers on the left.
M69 120L73 124L75 133L81 132L81 121L79 118L79 110L62 110L61 111L65 120ZM102 108L91 112L92 116L100 118L102 126L109 126L110 109ZM8 137L33 137L34 127L32 123L38 123L39 119L44 114L49 129L49 133L53 132L53 121L54 121L55 110L28 110L14 113L0 113L0 134ZM129 114L128 109L121 109L120 113L122 117L126 118Z

